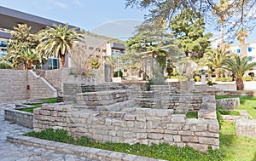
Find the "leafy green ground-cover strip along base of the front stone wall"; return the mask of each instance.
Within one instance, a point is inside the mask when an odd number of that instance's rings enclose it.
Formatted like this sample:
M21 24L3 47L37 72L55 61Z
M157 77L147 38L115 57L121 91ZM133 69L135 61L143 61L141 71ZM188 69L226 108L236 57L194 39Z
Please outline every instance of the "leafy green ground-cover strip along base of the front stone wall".
M153 144L148 147L143 144L129 145L126 143L113 143L106 142L100 143L93 141L86 136L82 136L79 139L73 139L73 137L67 135L67 131L63 129L45 129L39 133L30 132L26 136L37 137L49 141L60 141L64 143L71 143L74 145L84 146L84 147L94 147L101 148L105 150L115 151L115 152L126 152L130 154L140 155L149 158L160 158L172 161L179 160L222 160L224 154L219 150L208 149L206 153L201 153L194 150L192 147L177 147L169 146L166 143L160 145Z

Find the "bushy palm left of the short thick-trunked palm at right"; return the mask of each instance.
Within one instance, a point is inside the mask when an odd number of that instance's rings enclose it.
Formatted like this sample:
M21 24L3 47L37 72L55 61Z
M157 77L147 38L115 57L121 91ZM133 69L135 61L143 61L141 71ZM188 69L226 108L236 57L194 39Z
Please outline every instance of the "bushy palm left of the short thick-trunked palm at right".
M218 78L221 70L224 69L224 62L229 59L230 55L224 49L214 49L204 56L204 65L214 68L216 78Z

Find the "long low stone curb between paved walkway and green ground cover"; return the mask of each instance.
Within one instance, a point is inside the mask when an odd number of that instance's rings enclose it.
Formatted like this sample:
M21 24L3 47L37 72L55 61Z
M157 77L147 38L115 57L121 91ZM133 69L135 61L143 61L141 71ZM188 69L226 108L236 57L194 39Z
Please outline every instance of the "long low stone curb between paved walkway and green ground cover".
M91 147L81 147L55 141L46 141L38 138L27 136L7 136L7 141L20 143L27 146L43 147L46 149L65 152L78 155L84 158L108 161L165 161L162 159L147 158L137 155L131 155L123 152L113 152L108 150L96 149Z

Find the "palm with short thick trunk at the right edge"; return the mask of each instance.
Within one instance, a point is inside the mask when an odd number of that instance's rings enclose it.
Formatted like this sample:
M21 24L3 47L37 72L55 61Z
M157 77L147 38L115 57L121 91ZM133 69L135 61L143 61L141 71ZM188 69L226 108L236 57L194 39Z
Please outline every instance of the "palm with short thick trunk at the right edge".
M256 66L256 62L248 63L250 60L249 57L240 57L239 55L235 55L234 59L230 59L225 61L225 69L230 72L234 72L236 74L236 89L243 90L244 84L242 81L242 76L245 72L251 70L253 66Z

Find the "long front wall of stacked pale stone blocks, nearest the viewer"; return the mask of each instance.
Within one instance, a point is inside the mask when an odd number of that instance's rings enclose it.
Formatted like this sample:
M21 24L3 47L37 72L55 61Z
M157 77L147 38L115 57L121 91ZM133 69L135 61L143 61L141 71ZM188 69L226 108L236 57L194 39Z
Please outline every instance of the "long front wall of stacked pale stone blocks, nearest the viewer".
M151 145L166 142L205 152L218 148L218 120L186 118L172 109L123 108L119 112L76 111L73 106L48 105L34 111L34 130L67 129L75 137L96 141Z

